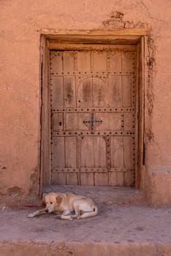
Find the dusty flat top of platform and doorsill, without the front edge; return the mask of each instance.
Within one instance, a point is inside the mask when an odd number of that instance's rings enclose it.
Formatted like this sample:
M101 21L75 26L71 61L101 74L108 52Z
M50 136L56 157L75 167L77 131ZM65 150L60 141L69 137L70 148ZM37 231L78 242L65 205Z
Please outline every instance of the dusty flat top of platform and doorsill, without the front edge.
M80 193L79 187L67 187L73 190ZM34 208L1 208L0 241L171 244L171 208L146 206L135 189L82 187L81 194L97 203L97 217L66 221L46 214L28 219Z

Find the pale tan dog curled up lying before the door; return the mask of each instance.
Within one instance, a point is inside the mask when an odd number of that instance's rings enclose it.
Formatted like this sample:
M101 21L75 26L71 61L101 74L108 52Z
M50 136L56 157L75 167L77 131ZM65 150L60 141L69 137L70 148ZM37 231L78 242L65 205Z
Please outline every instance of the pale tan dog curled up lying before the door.
M61 213L61 219L72 220L94 217L99 213L99 209L93 200L72 193L50 192L43 194L42 203L45 204L45 208L34 211L34 213L28 215L28 218L40 214Z

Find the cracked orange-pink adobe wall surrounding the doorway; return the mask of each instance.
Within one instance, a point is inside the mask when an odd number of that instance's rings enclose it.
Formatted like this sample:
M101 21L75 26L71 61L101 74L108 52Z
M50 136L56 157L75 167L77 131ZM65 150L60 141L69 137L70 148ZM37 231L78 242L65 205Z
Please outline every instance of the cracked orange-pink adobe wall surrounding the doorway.
M171 203L171 2L1 0L0 10L0 195L39 194L42 29L148 27L143 187L149 203Z

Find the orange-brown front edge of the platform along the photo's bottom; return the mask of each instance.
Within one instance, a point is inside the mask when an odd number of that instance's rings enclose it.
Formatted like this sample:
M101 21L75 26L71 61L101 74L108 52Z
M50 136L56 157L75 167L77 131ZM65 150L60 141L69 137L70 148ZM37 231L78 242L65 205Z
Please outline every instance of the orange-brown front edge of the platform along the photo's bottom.
M170 256L171 244L3 242L1 256Z

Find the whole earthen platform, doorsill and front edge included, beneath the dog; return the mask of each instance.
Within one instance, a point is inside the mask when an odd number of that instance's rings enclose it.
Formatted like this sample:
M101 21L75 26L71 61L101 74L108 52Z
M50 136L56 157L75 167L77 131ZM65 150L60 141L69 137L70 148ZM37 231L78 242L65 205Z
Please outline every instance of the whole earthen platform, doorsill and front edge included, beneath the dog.
M93 198L99 215L73 221L34 208L0 208L0 256L170 256L171 208L145 205L140 191L113 187L50 187Z

